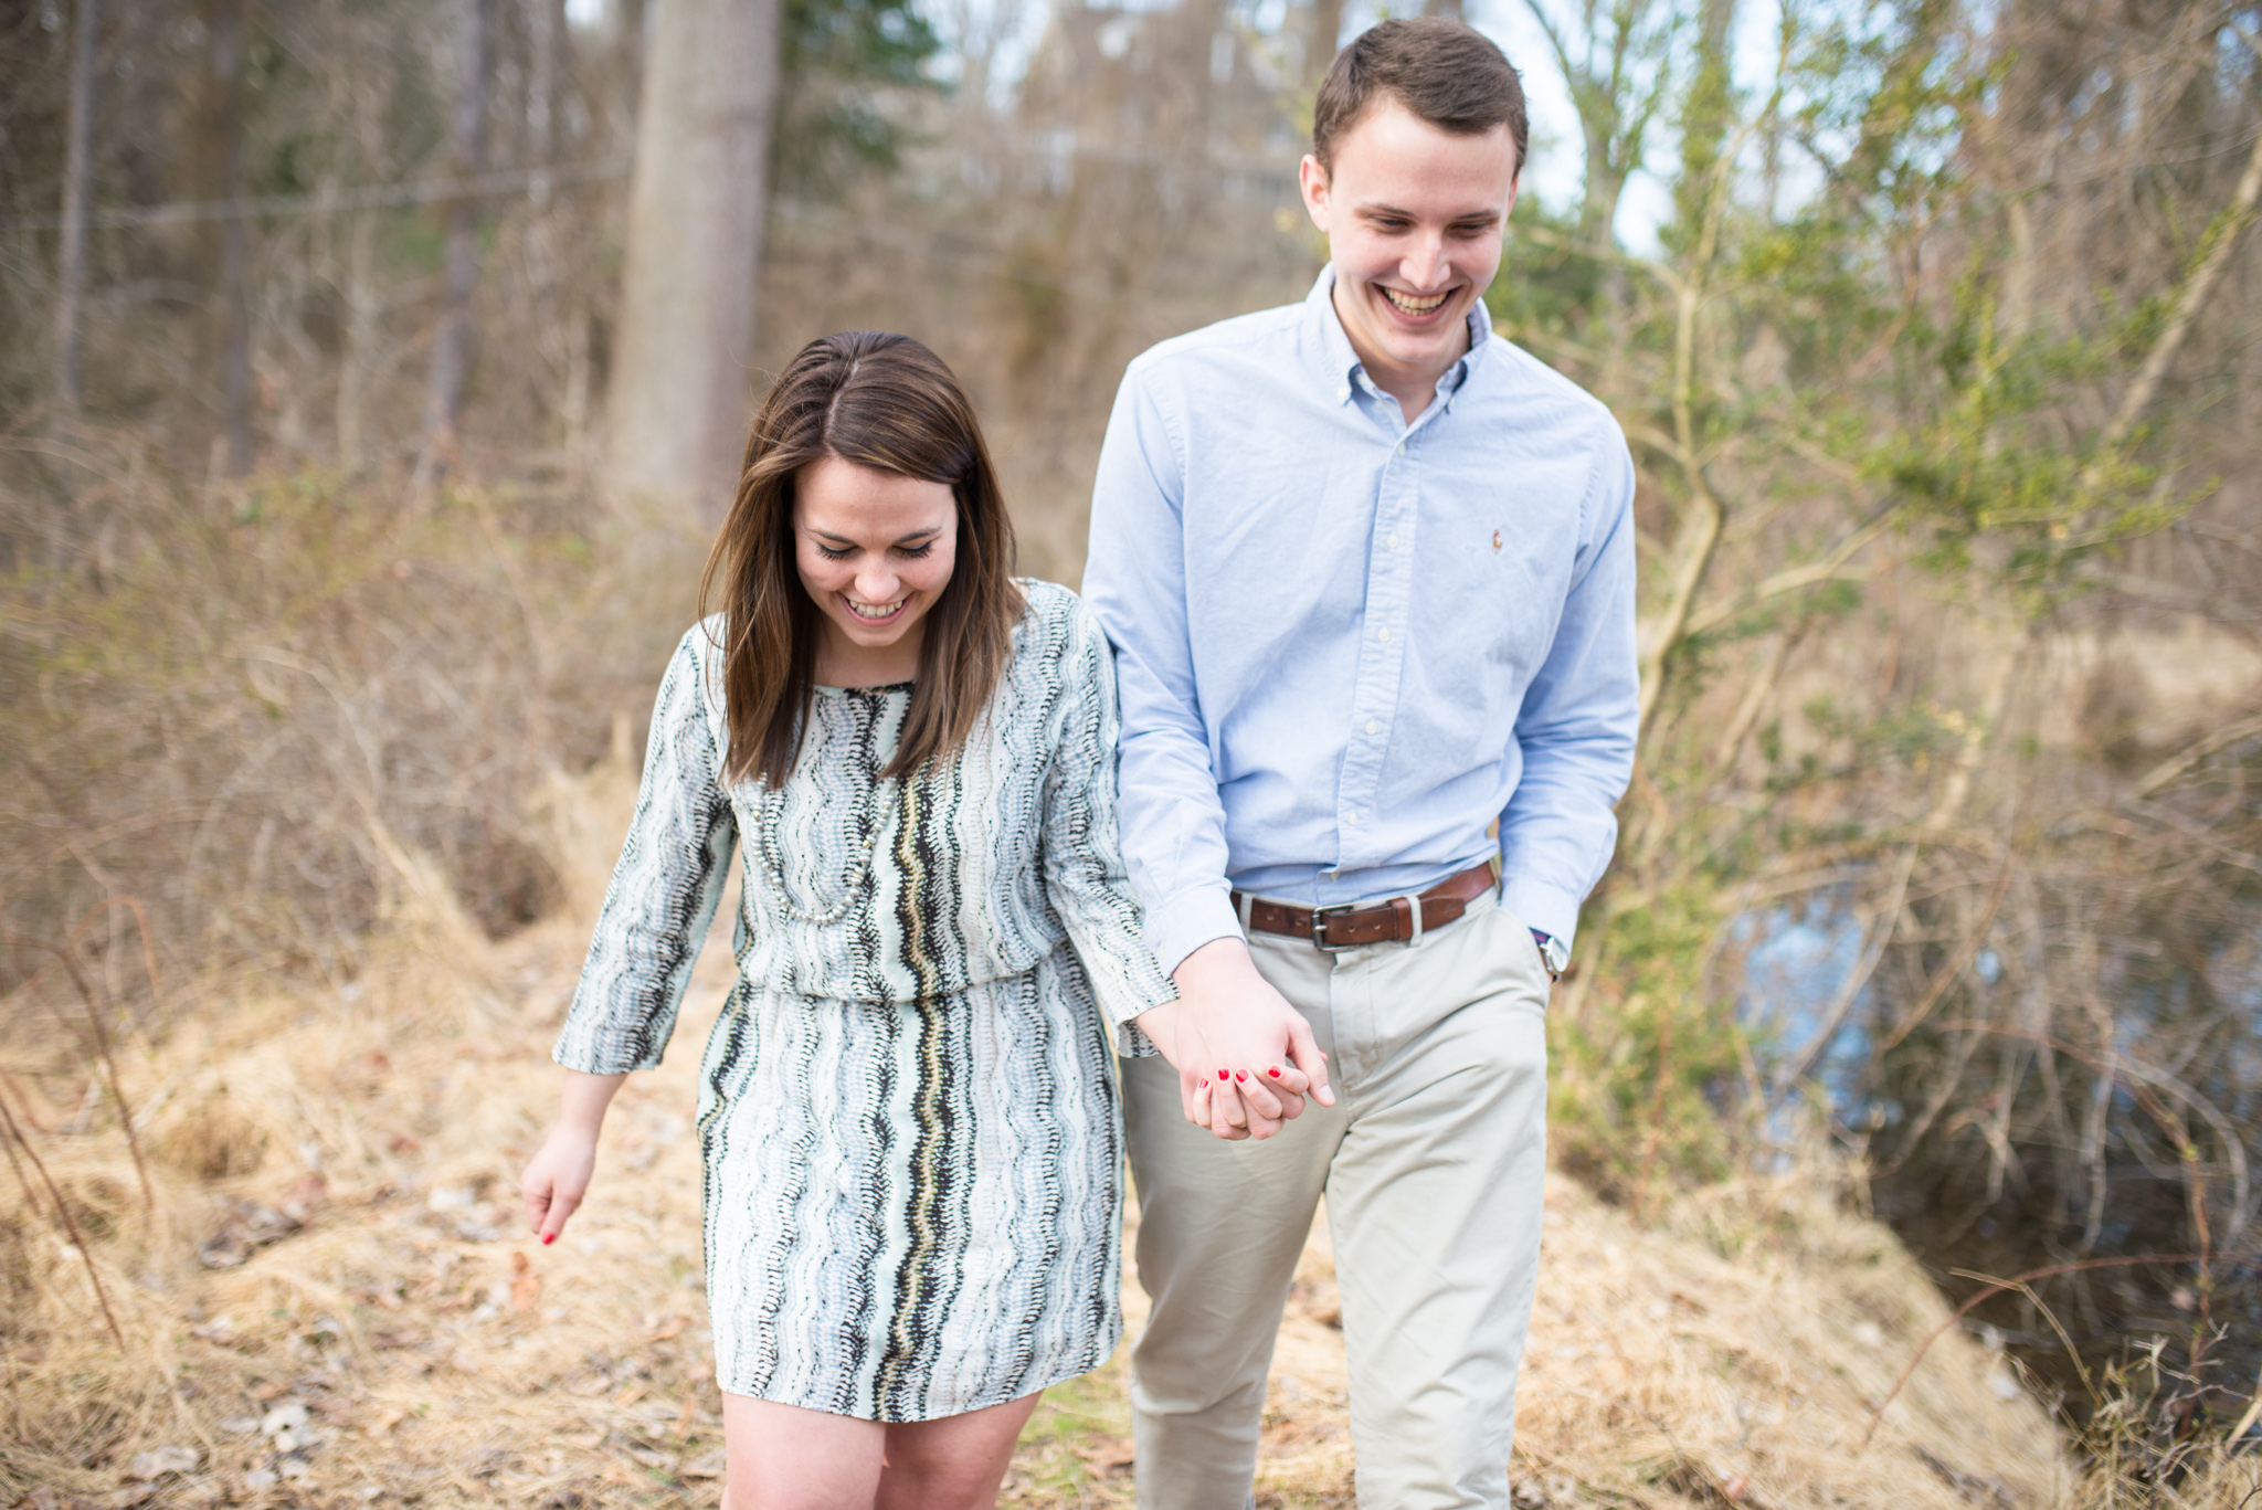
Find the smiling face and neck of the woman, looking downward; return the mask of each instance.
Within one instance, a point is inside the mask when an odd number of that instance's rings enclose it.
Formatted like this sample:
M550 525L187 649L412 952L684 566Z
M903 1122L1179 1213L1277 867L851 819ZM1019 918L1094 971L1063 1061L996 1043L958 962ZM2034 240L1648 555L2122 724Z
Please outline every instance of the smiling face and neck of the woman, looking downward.
M909 679L923 620L957 564L959 505L923 482L823 457L794 478L794 564L826 614L839 672L887 668Z

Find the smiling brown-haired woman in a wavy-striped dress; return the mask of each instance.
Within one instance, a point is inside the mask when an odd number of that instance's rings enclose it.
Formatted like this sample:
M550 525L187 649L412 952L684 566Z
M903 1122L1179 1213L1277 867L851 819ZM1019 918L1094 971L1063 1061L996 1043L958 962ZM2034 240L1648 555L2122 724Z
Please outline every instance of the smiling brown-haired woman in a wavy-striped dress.
M812 342L661 684L523 1191L552 1241L737 842L699 1078L733 1508L991 1505L1036 1392L1122 1331L1106 1032L1129 1050L1172 987L1117 858L1106 641L1011 561L950 369Z

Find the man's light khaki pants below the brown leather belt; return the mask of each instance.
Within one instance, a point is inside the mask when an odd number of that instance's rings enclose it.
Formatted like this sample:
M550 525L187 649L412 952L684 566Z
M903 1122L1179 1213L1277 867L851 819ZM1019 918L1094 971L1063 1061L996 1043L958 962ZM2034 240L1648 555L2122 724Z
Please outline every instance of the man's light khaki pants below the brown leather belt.
M1249 951L1312 1021L1337 1105L1226 1143L1185 1121L1167 1062L1124 1062L1154 1297L1131 1352L1138 1503L1253 1503L1274 1333L1326 1193L1362 1510L1504 1510L1547 1164L1538 949L1486 894L1405 944Z

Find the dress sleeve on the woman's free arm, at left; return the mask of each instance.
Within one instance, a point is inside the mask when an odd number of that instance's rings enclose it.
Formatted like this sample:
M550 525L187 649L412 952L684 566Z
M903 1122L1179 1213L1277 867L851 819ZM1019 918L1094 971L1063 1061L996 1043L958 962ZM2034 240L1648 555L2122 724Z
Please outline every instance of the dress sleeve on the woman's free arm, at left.
M566 1069L618 1075L658 1066L722 903L737 820L719 781L692 636L667 663L651 709L636 817L552 1050Z

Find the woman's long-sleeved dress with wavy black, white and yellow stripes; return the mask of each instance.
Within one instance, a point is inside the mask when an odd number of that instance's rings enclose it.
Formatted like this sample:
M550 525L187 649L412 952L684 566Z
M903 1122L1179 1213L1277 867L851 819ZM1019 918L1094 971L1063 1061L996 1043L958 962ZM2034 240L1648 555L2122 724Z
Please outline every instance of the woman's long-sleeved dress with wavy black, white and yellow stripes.
M1169 1001L1115 842L1115 675L1025 582L966 747L880 781L909 686L819 688L780 790L719 783L722 623L661 684L556 1062L658 1064L742 851L737 987L699 1073L715 1376L923 1422L1097 1367L1117 1311L1108 1035Z

